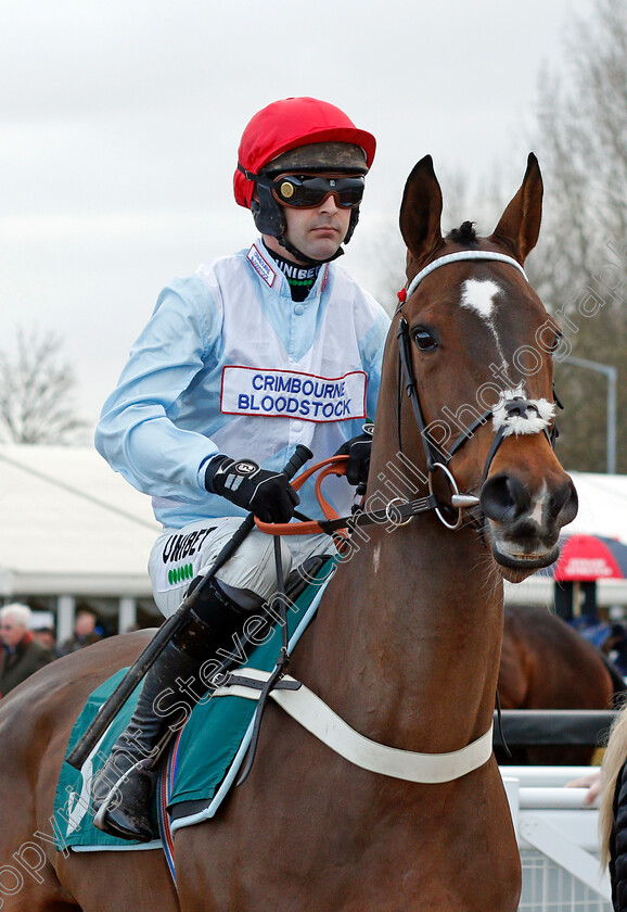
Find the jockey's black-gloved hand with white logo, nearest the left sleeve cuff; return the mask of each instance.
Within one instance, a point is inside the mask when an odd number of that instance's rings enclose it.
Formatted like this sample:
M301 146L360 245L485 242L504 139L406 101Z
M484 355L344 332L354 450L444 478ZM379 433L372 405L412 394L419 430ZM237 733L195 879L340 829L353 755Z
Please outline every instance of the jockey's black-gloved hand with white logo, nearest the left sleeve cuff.
M205 487L261 522L289 522L300 503L283 472L261 469L253 459L216 456L207 466Z

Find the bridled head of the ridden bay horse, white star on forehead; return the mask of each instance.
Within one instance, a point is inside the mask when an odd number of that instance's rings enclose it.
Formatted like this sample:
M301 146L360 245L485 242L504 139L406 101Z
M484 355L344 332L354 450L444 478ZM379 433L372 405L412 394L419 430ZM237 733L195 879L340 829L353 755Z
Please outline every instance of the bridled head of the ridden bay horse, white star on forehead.
M482 524L513 581L555 560L560 530L577 512L573 482L552 448L560 329L522 268L538 238L541 200L529 155L490 237L476 237L471 223L443 237L439 185L431 156L420 161L400 211L408 289L387 352L386 382L397 382L400 358L409 392L398 418L404 453L426 463L434 490L448 489L458 510L448 514L451 528L462 510Z

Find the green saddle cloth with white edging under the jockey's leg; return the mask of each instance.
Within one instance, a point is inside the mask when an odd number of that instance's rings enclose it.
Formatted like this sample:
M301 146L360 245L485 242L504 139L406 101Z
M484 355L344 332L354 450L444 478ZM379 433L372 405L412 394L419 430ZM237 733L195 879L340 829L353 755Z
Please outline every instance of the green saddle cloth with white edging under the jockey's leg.
M290 650L292 651L307 624L315 616L318 604L327 583L333 575L338 558L330 558L318 571L312 582L298 596L287 611L287 631L290 634ZM256 668L271 671L282 644L282 631L278 624L271 637L257 646L247 661L241 668ZM120 669L112 677L101 684L91 696L78 717L69 743L67 753L74 748L100 708L113 693L128 669ZM56 786L54 800L53 829L55 846L60 850L67 848L154 848L155 843L138 844L127 839L108 836L93 826L93 808L90 802L90 783L102 769L111 749L118 736L128 725L137 706L141 683L129 697L125 706L116 715L114 722L102 738L97 751L88 758L82 769L75 770L65 761ZM207 816L213 816L225 791L220 786L228 781L228 774L233 774L233 760L246 733L251 726L257 706L256 700L243 697L228 696L207 699L199 702L181 733L175 738L168 749L167 758L162 762L165 767L162 778L167 774L167 805L172 807L182 801L206 800L214 802L214 808ZM235 771L236 772L236 771ZM158 824L158 791L153 805L153 829L157 832ZM218 797L217 797L218 796Z

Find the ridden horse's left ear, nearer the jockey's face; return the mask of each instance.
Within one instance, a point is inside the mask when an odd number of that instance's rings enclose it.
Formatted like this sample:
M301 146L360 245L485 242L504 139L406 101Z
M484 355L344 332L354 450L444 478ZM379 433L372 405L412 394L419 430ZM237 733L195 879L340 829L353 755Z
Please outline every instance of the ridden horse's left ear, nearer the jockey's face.
M400 233L417 261L442 242L442 190L433 169L433 159L425 155L407 178L400 204Z

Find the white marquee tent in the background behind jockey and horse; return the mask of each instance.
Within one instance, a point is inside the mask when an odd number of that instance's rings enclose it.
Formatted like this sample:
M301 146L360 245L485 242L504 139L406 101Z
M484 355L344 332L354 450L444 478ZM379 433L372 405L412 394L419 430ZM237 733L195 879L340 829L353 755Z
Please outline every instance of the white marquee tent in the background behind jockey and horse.
M627 477L573 478L580 506L567 531L627 544ZM146 562L159 527L150 497L92 447L0 446L0 600L53 597L60 636L72 632L81 597L117 599L121 629L133 623L135 601L151 598ZM533 577L508 584L506 597L550 604L552 585ZM599 604L627 605L627 583L601 581Z

